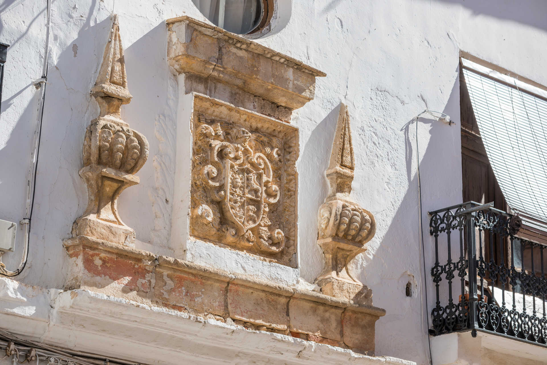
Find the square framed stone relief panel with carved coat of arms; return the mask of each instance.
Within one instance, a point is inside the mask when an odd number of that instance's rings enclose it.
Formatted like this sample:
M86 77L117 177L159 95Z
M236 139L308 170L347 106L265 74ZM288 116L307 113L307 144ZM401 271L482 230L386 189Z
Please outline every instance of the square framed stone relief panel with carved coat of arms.
M190 235L296 266L298 129L196 95Z

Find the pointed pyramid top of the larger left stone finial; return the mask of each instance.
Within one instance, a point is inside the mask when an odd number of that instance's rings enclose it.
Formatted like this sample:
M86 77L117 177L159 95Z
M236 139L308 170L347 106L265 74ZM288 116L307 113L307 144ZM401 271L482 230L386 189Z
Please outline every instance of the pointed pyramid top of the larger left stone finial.
M124 49L121 47L120 25L116 14L113 15L101 69L91 92L101 107L100 116L114 119L119 119L121 105L129 103L132 98L127 89Z

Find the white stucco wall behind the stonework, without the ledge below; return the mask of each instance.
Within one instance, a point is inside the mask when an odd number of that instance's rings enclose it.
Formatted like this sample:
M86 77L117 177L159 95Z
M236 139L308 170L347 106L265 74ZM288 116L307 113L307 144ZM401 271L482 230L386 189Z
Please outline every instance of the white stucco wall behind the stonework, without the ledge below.
M300 276L312 282L322 269L322 253L315 242L316 212L327 194L322 176L337 108L344 102L350 109L356 158L352 196L374 213L378 223L369 251L352 265L373 289L374 304L387 310L377 322L376 354L427 362L415 124L409 121L426 107L456 121L452 126L432 119L418 123L429 271L432 241L427 211L462 199L458 53L467 51L547 84L540 61L547 59L542 47L547 42L547 4L542 0L293 0L290 19L286 9L280 12L279 24L287 25L274 27L275 34L258 42L328 75L317 79L315 100L293 114L301 138ZM86 204L78 170L85 127L98 114L90 89L113 12L119 14L133 95L123 107L123 118L150 143L148 162L138 172L141 184L121 195L120 215L136 230L137 248L168 256L179 248L173 247L177 240L170 237L178 87L166 62L164 21L184 14L202 18L190 0L56 0L30 261L19 277L31 285L63 286L66 254L61 240L71 235L72 222ZM19 222L25 214L37 115L39 91L32 82L42 70L45 0L4 0L0 27L0 42L11 44L0 117L0 219ZM19 262L21 237L19 232L17 252L4 256L10 268ZM251 270L261 275L260 268ZM408 281L416 285L411 298L405 296ZM430 304L433 293L430 286Z

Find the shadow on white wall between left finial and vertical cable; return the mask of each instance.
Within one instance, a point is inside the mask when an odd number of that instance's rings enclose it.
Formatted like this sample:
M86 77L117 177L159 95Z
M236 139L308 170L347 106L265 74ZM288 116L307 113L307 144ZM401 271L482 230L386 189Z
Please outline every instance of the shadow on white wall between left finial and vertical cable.
M49 60L31 245L28 265L22 274L22 280L33 285L63 287L64 275L59 268L67 255L60 238L71 236L72 223L82 214L87 201L85 185L78 170L83 166L85 128L98 111L90 96L99 66L96 54L100 53L102 59L102 51L97 50L104 49L104 43L98 39L106 39L110 24L108 18L93 26L86 22L75 39L67 38L70 35L63 34L60 26L52 27L50 45L56 42L54 37L57 37L58 42L66 46L60 54L52 53ZM75 55L74 44L85 47L79 47ZM32 123L33 130L36 118L31 118L31 115L36 114L37 105L37 100L32 100L21 115L5 148L6 153L13 154L16 150L14 145L18 142L14 141L14 136L21 126ZM27 138L32 140L32 134ZM1 153L4 150L0 152L3 161ZM30 149L23 155L29 154ZM30 164L30 161L25 161L25 164ZM19 176L21 181L24 178ZM43 265L33 266L33 263Z

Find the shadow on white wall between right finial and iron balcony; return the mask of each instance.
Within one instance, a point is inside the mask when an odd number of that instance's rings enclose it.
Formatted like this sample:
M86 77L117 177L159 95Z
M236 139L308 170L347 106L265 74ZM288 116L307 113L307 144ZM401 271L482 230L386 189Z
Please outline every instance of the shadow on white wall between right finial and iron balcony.
M461 202L461 147L459 138L459 79L447 101L444 113L456 124L447 125L429 118L418 119L420 142L420 176L422 191L422 228L424 235L428 301L434 296L429 270L434 260L433 241L429 237L428 211ZM428 129L429 136L425 136ZM401 129L405 138L406 170L409 184L391 224L375 252L365 252L354 259L352 272L364 267L359 279L373 290L375 306L387 314L376 323L376 354L399 356L428 362L427 325L422 300L424 269L418 212L418 177L416 173L416 121L412 119ZM424 143L424 141L429 141ZM411 173L414 171L414 173ZM414 176L412 176L414 175ZM411 177L412 176L412 177ZM374 213L374 212L373 212ZM422 334L423 341L393 343L393 333L408 337ZM419 335L418 335L419 338Z

